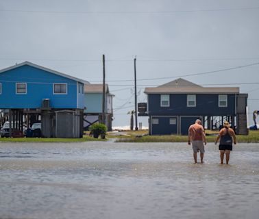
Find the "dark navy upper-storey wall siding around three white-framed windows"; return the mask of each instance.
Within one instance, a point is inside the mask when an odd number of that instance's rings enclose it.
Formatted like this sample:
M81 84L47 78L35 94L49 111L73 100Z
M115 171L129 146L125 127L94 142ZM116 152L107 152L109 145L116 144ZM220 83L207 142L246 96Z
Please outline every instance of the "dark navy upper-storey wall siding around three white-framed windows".
M148 95L149 115L235 114L236 96L227 94L227 107L219 107L218 94L196 94L196 107L187 107L187 94L170 94L170 106L160 107L160 94Z

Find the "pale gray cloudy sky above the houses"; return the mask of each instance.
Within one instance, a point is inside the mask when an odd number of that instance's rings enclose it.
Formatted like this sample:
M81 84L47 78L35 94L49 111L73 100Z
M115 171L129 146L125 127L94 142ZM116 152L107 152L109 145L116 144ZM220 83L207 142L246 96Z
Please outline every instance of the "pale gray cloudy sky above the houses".
M29 61L101 83L105 54L113 125L124 126L136 57L138 102L145 87L182 77L240 87L251 118L259 110L258 21L256 0L0 0L0 68Z

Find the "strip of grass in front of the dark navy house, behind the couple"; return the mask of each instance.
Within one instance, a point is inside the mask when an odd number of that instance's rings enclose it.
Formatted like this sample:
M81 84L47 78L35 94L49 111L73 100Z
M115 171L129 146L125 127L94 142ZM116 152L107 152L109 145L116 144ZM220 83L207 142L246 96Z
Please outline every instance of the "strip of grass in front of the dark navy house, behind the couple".
M188 136L141 136L138 134L138 131L135 131L134 134L130 131L130 137L119 138L116 142L187 142ZM215 142L217 138L217 131L206 131L206 140L207 142ZM259 143L259 131L249 131L248 136L236 136L236 141L239 143Z

